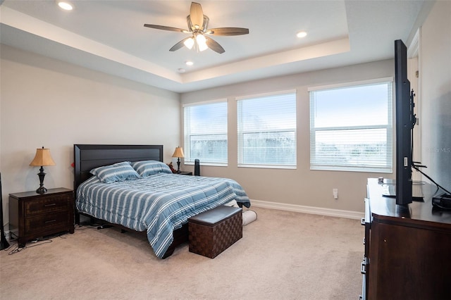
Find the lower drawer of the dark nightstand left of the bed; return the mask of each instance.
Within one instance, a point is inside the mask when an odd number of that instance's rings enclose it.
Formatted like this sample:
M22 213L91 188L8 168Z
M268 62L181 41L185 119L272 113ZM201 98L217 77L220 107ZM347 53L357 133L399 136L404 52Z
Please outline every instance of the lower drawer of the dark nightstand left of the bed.
M53 230L57 227L68 227L70 218L69 211L60 211L58 213L47 213L45 215L37 215L32 218L25 218L24 234L29 235L36 231Z

